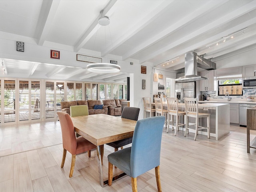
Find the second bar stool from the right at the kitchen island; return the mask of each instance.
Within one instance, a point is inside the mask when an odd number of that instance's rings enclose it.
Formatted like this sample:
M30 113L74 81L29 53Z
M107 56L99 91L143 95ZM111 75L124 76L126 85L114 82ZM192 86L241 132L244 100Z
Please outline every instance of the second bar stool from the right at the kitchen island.
M179 111L178 110L178 99L177 98L166 98L167 100L167 107L168 107L168 124L167 124L167 130L166 133L168 133L169 126L172 126L172 130L175 127L175 133L176 136L177 130L179 131L180 126L184 126L186 124L179 123L180 116L183 116L183 122L184 122L184 116L186 115L186 112ZM176 125L174 126L174 115L176 116ZM172 122L170 124L170 116L172 116Z

